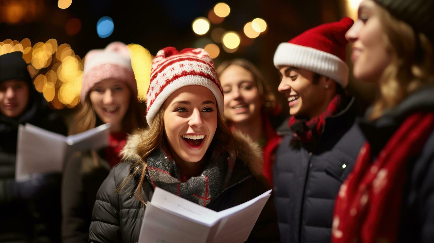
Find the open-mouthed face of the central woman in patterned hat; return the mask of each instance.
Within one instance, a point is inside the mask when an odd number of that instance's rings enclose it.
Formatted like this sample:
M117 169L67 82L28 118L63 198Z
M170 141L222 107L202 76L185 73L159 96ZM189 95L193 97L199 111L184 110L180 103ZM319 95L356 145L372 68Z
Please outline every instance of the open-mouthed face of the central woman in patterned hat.
M217 129L214 94L206 87L189 85L173 92L165 104L164 131L175 159L200 161Z

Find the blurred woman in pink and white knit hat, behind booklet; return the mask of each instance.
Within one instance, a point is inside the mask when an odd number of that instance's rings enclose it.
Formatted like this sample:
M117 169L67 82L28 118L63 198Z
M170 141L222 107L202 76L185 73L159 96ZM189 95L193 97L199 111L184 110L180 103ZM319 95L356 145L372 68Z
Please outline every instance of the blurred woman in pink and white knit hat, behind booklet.
M109 147L75 154L62 181L62 240L87 242L95 196L110 169L121 161L128 134L144 128L145 106L137 100L137 84L128 48L114 42L86 55L82 79L82 109L75 133L111 124Z

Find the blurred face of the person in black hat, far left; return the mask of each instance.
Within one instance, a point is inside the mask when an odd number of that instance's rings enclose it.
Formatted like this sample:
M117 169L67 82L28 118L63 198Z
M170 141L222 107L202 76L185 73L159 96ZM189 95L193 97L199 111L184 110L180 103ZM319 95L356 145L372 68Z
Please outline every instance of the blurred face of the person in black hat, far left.
M29 86L21 80L0 83L0 113L15 118L26 109L29 102Z

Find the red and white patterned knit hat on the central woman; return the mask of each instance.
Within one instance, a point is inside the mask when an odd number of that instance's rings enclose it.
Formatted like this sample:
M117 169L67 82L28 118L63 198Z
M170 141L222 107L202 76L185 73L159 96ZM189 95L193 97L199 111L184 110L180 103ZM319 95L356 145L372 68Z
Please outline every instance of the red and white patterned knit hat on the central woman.
M146 121L150 126L164 101L177 89L188 85L210 89L220 114L223 114L223 89L210 55L201 48L187 48L178 52L174 47L166 47L152 61L151 80L146 94Z

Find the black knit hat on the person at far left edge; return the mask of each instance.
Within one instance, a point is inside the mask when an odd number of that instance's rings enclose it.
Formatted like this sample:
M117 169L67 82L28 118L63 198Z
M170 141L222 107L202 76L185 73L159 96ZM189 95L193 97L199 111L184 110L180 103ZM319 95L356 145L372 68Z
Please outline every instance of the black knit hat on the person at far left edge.
M22 52L7 53L0 56L0 82L10 79L25 81L29 87L33 85Z

